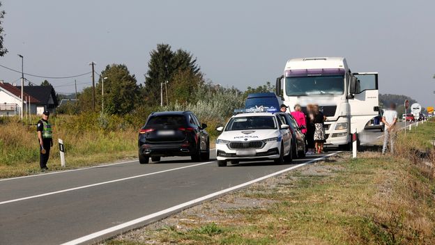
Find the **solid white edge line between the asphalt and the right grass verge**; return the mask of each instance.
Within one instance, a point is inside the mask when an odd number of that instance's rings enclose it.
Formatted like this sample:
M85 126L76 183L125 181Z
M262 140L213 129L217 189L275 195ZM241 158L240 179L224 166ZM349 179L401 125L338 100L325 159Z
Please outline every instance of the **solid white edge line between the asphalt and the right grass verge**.
M216 196L220 196L220 195L222 195L222 194L224 194L224 193L228 193L228 192L230 192L230 191L234 191L234 190L236 190L236 189L241 189L241 188L246 187L246 186L248 186L248 185L250 185L250 184L254 184L255 182L259 182L259 181L261 181L261 180L265 180L265 179L267 179L267 178L269 178L269 177L273 177L273 176L275 176L275 175L280 175L280 174L285 173L285 172L287 172L287 171L291 171L292 169L299 168L299 167L301 167L301 166L305 166L305 165L307 165L307 164L310 164L310 163L312 163L312 162L314 162L314 161L319 161L319 160L322 160L322 159L326 159L327 157L331 157L331 156L336 155L336 154L338 154L338 153L339 153L339 152L333 152L333 153L331 153L331 154L329 154L329 155L326 155L326 156L323 156L323 157L319 157L319 158L316 158L316 159L312 159L312 160L307 161L307 162L305 162L305 163L303 163L303 164L298 164L298 165L296 165L296 166L292 166L292 167L290 167L290 168L286 168L286 169L284 169L284 170L282 170L282 171L278 171L278 172L275 172L275 173L271 173L271 174L269 174L269 175L265 175L265 176L263 176L263 177L259 177L259 178L255 179L255 180L251 180L251 181L249 181L249 182L245 182L245 183L243 183L243 184L238 184L238 185L236 185L236 186L234 186L234 187L230 187L230 188L228 188L228 189L223 189L222 191L217 191L217 192L215 192L215 193L208 194L208 195L203 196L203 197L201 197L201 198L196 198L196 199L194 199L194 200L190 200L190 201L188 201L188 202L186 202L186 203L181 203L181 204L179 204L179 205L175 205L174 207L169 207L169 208L167 208L166 210L162 210L162 211L159 211L159 212L155 212L155 213L153 213L153 214L148 214L148 215L143 216L143 217L140 217L140 218L138 218L138 219L133 219L132 221L128 221L128 222L125 222L125 223L121 223L121 224L119 224L118 226L113 226L113 227L111 227L111 228L107 228L107 229L105 229L105 230L100 230L100 231L98 231L98 232L95 232L95 233L92 233L92 234L86 235L86 236L84 236L84 237L79 237L79 238L74 239L74 240L72 240L72 241L70 241L70 242L66 242L66 243L64 243L64 244L62 244L62 245L81 244L81 243L83 243L83 242L87 242L87 241L89 241L89 240L91 240L91 239L96 239L97 237L100 237L100 236L102 236L102 235L106 235L106 234L108 234L108 233L110 233L110 232L115 232L116 230L121 230L121 229L123 229L123 228L127 228L127 227L129 227L129 226L133 226L133 225L135 225L135 224L137 224L137 223L141 223L141 222L147 221L147 220L149 220L149 219L153 219L153 218L158 217L158 216L160 216L160 215L168 214L168 213L170 213L170 212L174 212L174 211L176 211L176 210L181 210L181 209L183 209L183 208L185 208L185 207L190 207L191 205L194 205L194 204L197 204L197 203L201 203L201 202L203 202L204 200L207 200L207 199L210 199L210 198L214 198L214 197L216 197Z

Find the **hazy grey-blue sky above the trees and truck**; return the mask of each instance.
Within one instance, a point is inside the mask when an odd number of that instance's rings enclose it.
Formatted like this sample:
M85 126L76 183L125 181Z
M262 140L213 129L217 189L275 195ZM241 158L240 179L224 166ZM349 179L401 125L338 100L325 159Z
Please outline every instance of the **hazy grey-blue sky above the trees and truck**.
M149 53L167 43L197 57L206 79L245 90L275 84L289 58L344 56L353 72L379 72L380 93L435 106L435 1L0 1L9 51L0 65L21 70L22 54L29 74L122 63L144 83ZM0 68L0 79L20 77ZM91 86L89 75L76 79ZM47 80L74 92L74 79Z

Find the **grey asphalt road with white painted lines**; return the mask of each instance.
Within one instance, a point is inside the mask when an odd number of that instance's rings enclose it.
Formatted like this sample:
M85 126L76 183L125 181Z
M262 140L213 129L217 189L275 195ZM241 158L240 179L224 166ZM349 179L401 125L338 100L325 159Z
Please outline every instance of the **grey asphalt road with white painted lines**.
M367 135L369 142L382 133ZM211 152L202 163L167 157L0 180L0 244L89 244L335 154L222 168Z

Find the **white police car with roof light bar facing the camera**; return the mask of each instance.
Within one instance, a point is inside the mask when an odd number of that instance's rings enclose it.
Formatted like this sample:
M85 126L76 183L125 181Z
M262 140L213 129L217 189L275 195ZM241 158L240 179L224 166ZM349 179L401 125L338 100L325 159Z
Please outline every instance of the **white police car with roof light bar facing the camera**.
M216 141L218 166L239 161L274 160L276 164L290 162L291 132L289 125L276 110L239 109L229 119Z

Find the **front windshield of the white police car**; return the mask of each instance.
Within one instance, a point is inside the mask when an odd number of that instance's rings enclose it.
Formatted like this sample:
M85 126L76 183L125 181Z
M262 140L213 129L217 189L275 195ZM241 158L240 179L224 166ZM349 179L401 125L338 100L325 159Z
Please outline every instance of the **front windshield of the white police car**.
M231 118L225 131L246 129L277 129L273 116L244 116Z

